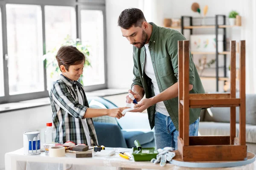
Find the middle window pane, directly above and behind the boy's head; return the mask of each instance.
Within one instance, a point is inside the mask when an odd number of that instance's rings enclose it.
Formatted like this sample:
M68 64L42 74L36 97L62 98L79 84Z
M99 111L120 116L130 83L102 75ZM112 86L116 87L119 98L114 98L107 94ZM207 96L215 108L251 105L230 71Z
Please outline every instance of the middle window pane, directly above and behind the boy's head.
M76 40L76 11L74 7L69 6L45 6L44 9L46 52L54 54L67 40ZM54 55L50 57L49 62L56 62ZM59 78L56 68L58 65L47 64L48 91L52 88L52 83Z

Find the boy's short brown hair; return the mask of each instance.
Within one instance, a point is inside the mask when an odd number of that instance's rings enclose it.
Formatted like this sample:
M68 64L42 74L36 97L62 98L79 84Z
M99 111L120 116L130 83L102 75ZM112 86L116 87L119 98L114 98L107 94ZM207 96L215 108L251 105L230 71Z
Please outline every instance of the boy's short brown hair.
M64 65L68 71L70 65L78 65L81 62L85 62L84 54L72 45L62 46L56 55L58 66L61 69L61 65Z

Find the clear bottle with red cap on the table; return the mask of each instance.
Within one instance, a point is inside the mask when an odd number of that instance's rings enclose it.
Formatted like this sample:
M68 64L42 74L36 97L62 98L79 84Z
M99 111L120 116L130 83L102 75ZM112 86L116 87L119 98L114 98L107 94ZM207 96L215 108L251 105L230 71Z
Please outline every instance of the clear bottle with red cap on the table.
M52 122L46 123L46 130L44 132L44 150L45 154L49 154L49 147L55 146L55 130L52 127Z

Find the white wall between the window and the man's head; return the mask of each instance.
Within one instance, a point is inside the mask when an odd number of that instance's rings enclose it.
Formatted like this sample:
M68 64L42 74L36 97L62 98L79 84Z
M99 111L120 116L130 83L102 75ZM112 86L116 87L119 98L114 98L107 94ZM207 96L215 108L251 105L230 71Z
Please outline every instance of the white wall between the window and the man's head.
M133 79L132 45L117 26L126 8L141 8L141 0L106 0L108 88L130 88Z

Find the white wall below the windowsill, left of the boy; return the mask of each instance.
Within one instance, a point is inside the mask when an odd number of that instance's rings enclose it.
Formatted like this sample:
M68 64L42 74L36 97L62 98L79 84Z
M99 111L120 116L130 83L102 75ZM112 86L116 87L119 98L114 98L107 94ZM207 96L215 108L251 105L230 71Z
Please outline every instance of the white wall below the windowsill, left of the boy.
M4 155L23 147L23 132L41 130L52 122L50 105L0 113L0 169L4 168Z

